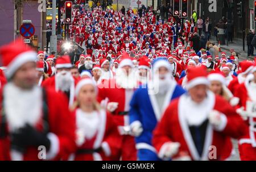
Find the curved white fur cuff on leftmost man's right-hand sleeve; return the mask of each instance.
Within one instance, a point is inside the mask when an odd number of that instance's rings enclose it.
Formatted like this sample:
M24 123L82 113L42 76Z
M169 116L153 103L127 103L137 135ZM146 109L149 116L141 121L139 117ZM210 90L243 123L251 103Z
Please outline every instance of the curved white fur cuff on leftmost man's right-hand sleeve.
M51 160L56 157L56 155L59 153L59 148L60 148L60 142L59 138L50 132L47 134L48 139L51 141L51 147L49 148L49 151L46 154L47 160Z

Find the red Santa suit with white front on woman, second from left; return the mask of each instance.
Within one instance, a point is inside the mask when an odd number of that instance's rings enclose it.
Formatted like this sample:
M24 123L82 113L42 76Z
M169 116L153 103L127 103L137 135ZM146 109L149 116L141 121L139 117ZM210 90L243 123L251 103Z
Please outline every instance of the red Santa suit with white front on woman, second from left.
M73 115L76 117L77 151L69 160L111 160L112 154L116 154L121 145L112 115L103 109L93 113L76 109Z

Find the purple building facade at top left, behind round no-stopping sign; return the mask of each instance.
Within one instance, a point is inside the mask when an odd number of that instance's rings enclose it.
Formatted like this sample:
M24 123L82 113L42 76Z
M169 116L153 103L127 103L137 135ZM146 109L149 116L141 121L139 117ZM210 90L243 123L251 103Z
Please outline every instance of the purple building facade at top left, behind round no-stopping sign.
M0 4L0 46L13 41L19 35L22 20L31 20L35 27L35 36L38 46L42 45L42 12L38 10L38 0L20 1L18 7L15 1L1 1Z

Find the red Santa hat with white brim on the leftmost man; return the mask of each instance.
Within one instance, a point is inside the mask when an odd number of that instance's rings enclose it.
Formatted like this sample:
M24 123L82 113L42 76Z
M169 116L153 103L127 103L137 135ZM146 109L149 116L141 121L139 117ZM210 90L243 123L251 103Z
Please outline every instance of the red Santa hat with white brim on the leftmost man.
M23 40L16 40L0 48L2 66L6 67L6 77L11 78L20 66L27 62L36 61L36 52L23 43Z

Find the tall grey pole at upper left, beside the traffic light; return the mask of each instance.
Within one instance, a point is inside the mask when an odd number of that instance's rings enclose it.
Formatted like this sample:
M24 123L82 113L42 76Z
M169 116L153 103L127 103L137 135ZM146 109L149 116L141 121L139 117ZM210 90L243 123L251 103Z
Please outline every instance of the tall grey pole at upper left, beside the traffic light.
M52 0L52 36L50 40L51 52L57 52L57 36L56 36L56 0Z

